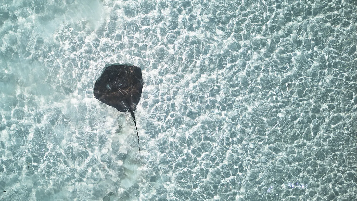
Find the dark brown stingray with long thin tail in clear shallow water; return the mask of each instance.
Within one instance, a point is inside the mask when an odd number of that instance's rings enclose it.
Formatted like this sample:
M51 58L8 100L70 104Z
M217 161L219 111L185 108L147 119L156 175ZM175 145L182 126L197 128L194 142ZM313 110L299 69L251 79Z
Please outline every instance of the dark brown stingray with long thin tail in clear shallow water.
M141 69L137 66L111 65L106 67L102 75L94 84L94 97L101 102L115 107L121 112L129 111L134 119L137 144L137 132L134 111L140 101L142 87Z

